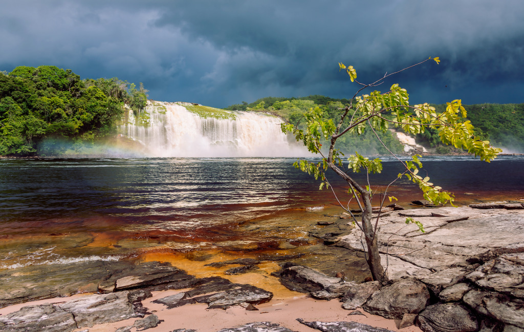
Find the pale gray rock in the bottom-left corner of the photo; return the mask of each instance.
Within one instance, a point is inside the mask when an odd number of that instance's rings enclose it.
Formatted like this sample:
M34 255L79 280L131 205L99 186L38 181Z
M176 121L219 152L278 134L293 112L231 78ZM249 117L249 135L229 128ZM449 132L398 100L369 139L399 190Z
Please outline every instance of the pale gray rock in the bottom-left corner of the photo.
M73 315L48 303L26 306L0 316L0 330L4 332L69 332L74 329L77 323Z

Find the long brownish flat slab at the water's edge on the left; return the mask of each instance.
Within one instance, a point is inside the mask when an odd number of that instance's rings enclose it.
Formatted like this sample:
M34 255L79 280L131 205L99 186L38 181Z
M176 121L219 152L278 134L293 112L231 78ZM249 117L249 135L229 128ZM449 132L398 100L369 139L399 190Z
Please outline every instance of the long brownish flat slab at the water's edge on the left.
M169 263L133 261L87 261L31 265L3 271L0 276L0 307L71 296L77 293L108 293L156 286L152 290L190 286L194 276Z

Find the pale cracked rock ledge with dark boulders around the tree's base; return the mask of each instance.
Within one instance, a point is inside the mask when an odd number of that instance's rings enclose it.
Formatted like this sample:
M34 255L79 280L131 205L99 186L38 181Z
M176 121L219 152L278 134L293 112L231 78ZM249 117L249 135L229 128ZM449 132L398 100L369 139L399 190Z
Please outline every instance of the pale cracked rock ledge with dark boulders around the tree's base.
M292 264L276 275L290 289L340 298L345 309L399 319L399 328L524 332L524 211L495 205L413 209L381 219L379 250L391 278L385 284L344 282ZM408 215L427 233L406 226ZM363 251L358 233L334 246Z

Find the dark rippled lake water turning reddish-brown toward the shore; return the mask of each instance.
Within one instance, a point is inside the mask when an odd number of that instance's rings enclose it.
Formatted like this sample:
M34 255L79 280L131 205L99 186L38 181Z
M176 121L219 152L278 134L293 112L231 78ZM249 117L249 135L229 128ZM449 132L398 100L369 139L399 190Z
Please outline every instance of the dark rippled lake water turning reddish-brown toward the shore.
M291 220L297 209L335 202L331 191L319 191L312 176L294 169L294 160L0 159L0 269L64 257L117 257L148 246L238 245L249 234L232 235L231 225L261 216ZM522 156L422 162L432 182L454 192L458 203L524 197ZM383 173L370 182L384 189L401 170L386 159ZM345 190L335 176L330 181L337 192ZM389 193L402 203L421 198L408 180L397 181Z

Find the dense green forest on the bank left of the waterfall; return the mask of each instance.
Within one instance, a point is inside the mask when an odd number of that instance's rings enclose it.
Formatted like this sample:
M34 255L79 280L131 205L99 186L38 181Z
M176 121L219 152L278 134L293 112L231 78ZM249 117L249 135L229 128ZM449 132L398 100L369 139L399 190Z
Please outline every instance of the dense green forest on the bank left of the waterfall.
M114 134L124 103L146 105L147 90L127 81L84 79L70 69L20 66L0 72L0 155L46 156Z

